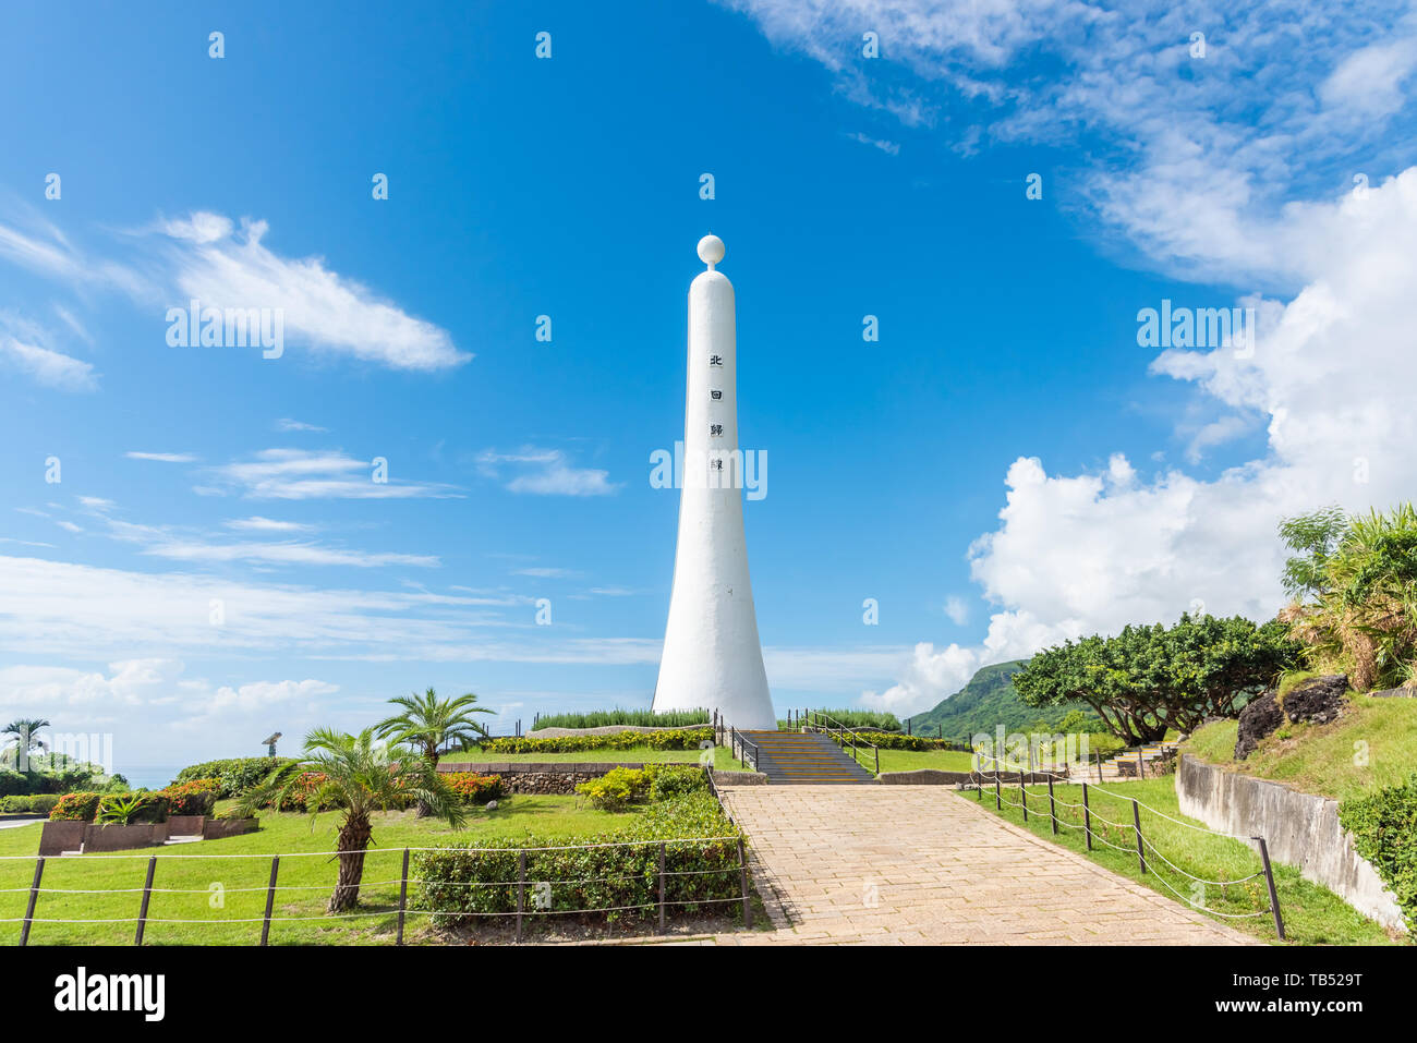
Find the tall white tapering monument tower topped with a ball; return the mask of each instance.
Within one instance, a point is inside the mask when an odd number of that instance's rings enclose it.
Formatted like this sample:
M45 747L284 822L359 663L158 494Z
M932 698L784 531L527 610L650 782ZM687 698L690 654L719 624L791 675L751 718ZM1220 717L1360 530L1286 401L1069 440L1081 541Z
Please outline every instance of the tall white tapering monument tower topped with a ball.
M679 546L655 710L720 710L734 727L775 731L743 539L733 283L714 271L723 254L723 239L703 237L708 271L689 288Z

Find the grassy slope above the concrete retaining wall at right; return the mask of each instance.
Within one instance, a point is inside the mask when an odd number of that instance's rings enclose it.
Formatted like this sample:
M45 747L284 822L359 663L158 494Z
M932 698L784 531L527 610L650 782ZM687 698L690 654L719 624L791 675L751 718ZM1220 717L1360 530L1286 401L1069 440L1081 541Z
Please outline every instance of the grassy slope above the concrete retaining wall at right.
M1417 771L1417 699L1350 696L1332 724L1287 724L1234 761L1236 721L1197 728L1182 750L1246 775L1345 799L1397 785ZM1288 737L1281 738L1284 733ZM1366 754L1366 760L1362 754Z

